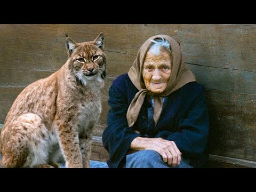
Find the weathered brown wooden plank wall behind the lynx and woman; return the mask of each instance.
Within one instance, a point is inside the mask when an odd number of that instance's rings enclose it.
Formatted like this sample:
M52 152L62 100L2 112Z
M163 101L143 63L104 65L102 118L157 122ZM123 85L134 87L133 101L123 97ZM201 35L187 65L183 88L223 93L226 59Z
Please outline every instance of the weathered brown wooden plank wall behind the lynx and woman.
M0 123L21 90L67 60L66 34L76 42L106 37L107 80L94 135L106 127L108 89L126 73L147 38L180 42L185 62L206 87L210 152L256 161L256 25L0 25Z

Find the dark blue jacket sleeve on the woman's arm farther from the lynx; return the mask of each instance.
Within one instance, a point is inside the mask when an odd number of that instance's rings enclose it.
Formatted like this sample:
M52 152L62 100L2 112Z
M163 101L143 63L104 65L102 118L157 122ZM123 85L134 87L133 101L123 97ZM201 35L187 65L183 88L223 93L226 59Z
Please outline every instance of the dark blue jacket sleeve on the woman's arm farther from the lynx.
M196 92L191 107L179 122L178 132L163 130L156 138L174 141L182 154L193 156L202 154L209 135L209 114L204 97L204 87Z

